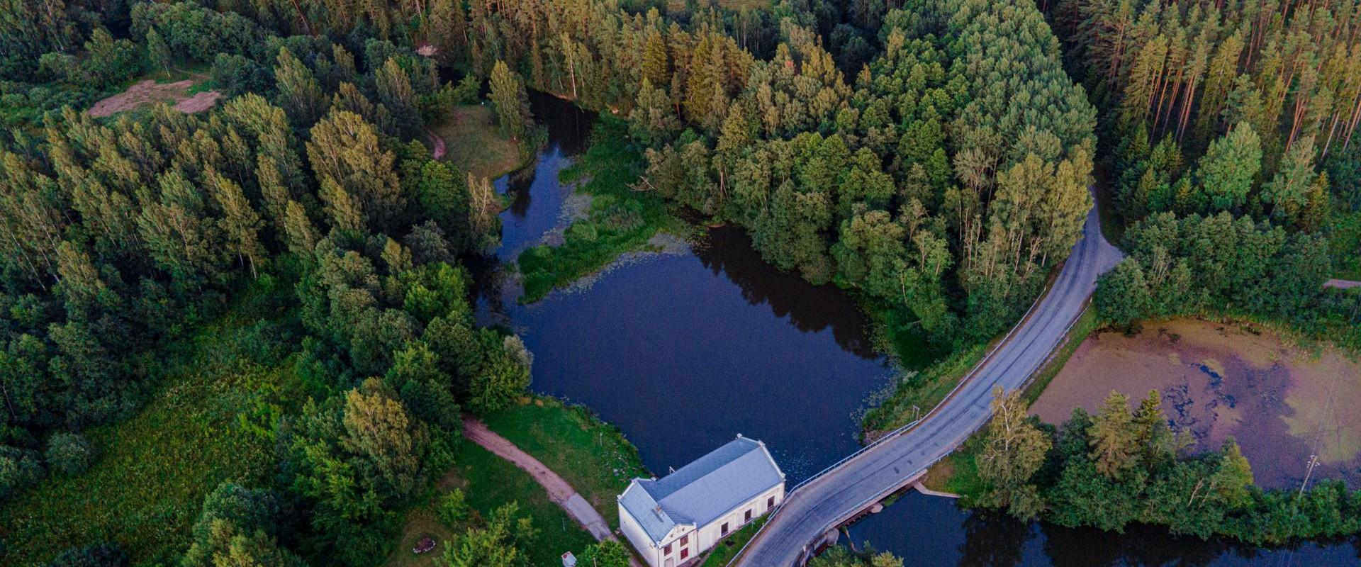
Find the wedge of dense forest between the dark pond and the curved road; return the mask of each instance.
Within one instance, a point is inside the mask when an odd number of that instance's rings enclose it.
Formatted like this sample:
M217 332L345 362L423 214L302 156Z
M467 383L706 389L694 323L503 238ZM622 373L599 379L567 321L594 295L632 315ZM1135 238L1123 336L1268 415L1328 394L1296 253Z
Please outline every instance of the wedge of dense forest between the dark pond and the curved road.
M1096 110L1029 3L778 3L773 34L715 11L680 26L562 8L472 10L464 34L436 35L470 37L442 49L474 68L510 61L534 88L627 117L640 190L749 228L774 265L939 341L1014 321L1081 231Z

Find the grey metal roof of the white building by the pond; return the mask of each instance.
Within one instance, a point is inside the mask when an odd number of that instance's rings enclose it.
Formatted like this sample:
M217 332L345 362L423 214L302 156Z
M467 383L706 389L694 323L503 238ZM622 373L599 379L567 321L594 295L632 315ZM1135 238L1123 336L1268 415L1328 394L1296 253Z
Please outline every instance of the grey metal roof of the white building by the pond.
M765 445L738 435L663 479L634 479L619 503L661 543L672 528L708 525L783 481Z

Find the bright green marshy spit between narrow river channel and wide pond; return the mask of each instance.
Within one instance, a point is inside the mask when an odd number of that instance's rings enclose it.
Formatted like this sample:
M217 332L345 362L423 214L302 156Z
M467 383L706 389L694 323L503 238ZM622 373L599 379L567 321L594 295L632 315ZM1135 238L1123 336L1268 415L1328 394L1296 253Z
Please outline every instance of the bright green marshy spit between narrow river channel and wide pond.
M568 227L561 246L539 245L517 258L524 275L520 302L542 299L554 287L566 286L610 265L619 254L640 250L657 231L685 234L686 226L667 211L656 192L636 192L629 184L644 163L629 145L622 121L602 117L591 135L591 148L562 171L563 182L592 196L588 218Z

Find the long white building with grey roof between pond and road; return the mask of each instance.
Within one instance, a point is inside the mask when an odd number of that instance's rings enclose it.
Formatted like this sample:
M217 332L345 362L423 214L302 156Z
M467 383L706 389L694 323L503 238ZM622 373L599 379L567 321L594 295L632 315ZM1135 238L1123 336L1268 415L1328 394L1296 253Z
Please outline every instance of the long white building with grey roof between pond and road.
M765 443L738 435L664 479L633 479L619 529L652 567L678 567L784 500L784 473Z

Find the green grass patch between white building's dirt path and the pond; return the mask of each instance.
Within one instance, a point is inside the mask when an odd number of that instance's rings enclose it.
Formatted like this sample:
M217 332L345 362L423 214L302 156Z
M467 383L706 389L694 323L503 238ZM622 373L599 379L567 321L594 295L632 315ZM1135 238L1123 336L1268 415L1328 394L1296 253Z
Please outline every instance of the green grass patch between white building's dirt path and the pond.
M618 427L580 405L542 397L524 401L486 416L487 427L562 476L611 528L618 528L615 496L630 479L648 476L638 450Z

